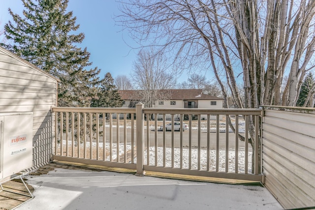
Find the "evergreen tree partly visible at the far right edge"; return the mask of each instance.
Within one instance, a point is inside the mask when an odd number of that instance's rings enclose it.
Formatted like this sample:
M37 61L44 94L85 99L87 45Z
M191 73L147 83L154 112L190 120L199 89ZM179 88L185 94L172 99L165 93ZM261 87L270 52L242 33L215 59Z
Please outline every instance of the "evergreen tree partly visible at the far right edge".
M315 94L315 80L312 72L309 72L303 80L296 106L309 106L311 97ZM313 107L313 104L311 105Z

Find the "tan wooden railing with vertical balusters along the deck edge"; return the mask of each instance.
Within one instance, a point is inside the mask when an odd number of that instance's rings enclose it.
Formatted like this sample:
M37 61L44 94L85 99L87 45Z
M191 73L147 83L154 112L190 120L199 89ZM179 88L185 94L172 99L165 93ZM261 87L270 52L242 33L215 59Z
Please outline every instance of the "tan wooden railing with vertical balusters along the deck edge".
M261 147L256 143L260 109L158 109L137 104L52 111L56 160L133 169L139 176L152 171L262 181ZM258 128L254 150L248 143L250 116ZM186 123L188 130L176 131L174 122ZM165 129L168 123L170 131ZM239 140L240 135L245 141Z

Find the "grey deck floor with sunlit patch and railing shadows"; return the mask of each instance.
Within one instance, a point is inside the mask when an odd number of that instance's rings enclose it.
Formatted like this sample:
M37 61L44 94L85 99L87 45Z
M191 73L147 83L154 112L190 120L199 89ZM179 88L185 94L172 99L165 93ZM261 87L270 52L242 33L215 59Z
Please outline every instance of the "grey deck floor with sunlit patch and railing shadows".
M137 177L52 163L26 177L32 200L16 210L281 210L257 185Z

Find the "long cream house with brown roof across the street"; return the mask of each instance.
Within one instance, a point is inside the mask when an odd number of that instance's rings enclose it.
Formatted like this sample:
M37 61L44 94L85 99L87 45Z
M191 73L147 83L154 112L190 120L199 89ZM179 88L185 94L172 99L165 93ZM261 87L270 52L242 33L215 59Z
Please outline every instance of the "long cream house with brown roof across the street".
M222 109L223 98L203 94L201 89L173 89L160 90L165 92L165 99L155 102L155 108L200 108L200 109ZM123 107L135 107L143 98L139 90L119 90L124 100ZM207 120L207 115L201 115L201 120ZM215 117L215 116L214 116ZM162 116L158 115L158 119ZM170 115L166 116L170 119ZM175 116L176 119L179 116ZM195 116L196 119L196 116Z

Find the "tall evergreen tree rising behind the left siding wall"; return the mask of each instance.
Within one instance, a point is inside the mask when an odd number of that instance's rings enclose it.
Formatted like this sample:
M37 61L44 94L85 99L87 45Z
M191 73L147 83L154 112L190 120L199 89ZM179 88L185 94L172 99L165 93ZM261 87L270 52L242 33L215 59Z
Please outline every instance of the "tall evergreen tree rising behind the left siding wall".
M79 29L72 11L67 12L68 0L22 0L24 17L9 8L14 24L5 25L5 36L14 44L2 44L21 58L61 80L58 106L90 106L99 85L99 69L86 70L92 65L90 53L75 44L84 33Z

